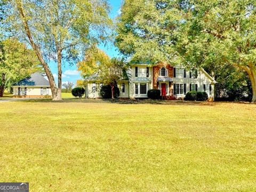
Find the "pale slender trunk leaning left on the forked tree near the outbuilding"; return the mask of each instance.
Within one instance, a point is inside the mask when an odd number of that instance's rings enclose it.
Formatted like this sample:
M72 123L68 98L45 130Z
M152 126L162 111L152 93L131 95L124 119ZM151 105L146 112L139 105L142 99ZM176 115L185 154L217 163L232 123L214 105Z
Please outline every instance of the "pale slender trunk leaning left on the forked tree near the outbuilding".
M32 37L31 31L30 31L30 28L29 28L29 25L28 25L28 20L27 20L25 12L23 10L23 6L22 6L21 1L17 2L17 7L18 7L20 17L21 17L22 22L23 22L23 26L26 30L26 34L27 34L27 37L29 39L30 45L33 47L33 49L34 49L34 51L37 55L37 58L41 62L42 66L44 68L44 71L45 71L45 73L46 73L46 75L49 79L49 83L50 83L50 87L51 87L51 91L52 91L52 99L53 100L61 100L61 90L59 91L59 89L57 89L57 86L55 84L52 72L51 72L49 66L47 65L47 63L44 61L41 50L39 49L39 47L34 42L34 39Z

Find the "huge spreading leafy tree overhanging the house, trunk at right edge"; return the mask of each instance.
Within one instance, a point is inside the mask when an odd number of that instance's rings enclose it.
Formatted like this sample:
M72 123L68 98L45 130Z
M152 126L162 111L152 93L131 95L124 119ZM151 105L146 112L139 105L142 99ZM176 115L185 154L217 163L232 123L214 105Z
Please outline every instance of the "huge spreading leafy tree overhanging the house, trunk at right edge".
M125 0L116 45L134 60L240 68L256 102L255 16L256 2L250 0Z

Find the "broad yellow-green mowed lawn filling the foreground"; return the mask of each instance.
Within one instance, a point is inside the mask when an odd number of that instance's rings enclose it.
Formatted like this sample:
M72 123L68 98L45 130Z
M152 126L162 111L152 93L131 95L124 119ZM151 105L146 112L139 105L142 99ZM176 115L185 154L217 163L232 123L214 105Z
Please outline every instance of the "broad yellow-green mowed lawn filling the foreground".
M30 191L256 191L256 105L165 103L0 103L0 181Z

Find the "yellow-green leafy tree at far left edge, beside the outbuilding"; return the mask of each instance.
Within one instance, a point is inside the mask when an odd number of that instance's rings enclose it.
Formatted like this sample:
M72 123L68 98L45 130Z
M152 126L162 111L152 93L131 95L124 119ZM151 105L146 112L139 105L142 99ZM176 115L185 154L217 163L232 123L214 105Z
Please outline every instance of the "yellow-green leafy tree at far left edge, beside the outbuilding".
M0 97L6 88L36 71L43 69L33 50L15 38L0 43Z

